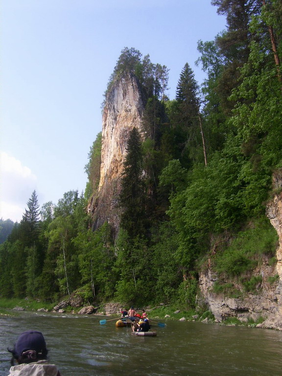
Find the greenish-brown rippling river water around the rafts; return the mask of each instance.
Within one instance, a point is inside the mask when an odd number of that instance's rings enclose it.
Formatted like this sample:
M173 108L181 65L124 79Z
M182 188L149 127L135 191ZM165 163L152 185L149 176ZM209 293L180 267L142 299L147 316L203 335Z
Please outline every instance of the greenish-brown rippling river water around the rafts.
M105 317L21 312L0 317L0 376L24 330L43 332L62 376L280 376L282 332L166 321L156 337L138 337ZM109 319L109 318L107 318ZM164 322L164 321L162 321Z

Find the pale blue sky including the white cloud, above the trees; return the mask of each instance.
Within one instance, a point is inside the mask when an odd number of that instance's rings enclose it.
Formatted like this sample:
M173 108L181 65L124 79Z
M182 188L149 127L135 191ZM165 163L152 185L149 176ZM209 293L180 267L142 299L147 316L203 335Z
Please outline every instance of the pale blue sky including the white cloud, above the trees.
M210 0L2 0L0 218L83 191L84 166L102 129L100 105L124 47L169 71L170 99L197 41L225 28Z

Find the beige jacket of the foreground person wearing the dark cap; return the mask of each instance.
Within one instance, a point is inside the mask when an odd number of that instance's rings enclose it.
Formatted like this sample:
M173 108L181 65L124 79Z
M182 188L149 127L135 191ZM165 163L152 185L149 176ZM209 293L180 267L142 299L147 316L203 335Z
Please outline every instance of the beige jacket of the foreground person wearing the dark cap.
M48 364L47 360L36 363L19 364L10 368L8 376L57 376L58 368L54 364Z

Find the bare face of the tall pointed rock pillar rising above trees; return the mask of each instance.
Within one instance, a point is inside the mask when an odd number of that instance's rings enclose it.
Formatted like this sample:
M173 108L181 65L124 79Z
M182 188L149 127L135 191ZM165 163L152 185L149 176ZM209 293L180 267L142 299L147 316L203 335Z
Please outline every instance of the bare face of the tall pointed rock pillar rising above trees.
M144 100L138 79L131 73L112 86L103 112L100 183L90 205L94 229L108 221L118 231L120 175L129 132L136 127L142 136Z

